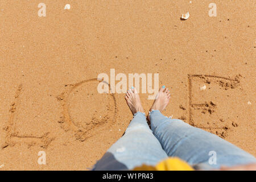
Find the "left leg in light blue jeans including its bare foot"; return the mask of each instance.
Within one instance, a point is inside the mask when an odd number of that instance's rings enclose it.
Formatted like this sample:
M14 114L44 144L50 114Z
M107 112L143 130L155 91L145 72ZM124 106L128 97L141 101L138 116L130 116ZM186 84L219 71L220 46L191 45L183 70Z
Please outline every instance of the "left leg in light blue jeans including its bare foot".
M168 158L158 139L147 125L138 93L131 89L126 98L134 114L125 135L113 144L96 163L94 170L125 170L148 164L155 166L160 160Z

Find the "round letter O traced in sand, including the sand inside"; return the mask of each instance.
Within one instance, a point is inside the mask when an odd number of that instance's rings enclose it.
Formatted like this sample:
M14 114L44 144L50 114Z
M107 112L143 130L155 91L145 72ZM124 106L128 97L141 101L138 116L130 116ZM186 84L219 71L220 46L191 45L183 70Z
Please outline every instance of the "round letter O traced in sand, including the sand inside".
M99 82L106 84L110 89L108 82L92 78L65 85L65 92L57 96L63 106L63 113L58 122L65 131L74 131L75 138L81 142L115 123L117 104L114 94L100 94L97 89L91 89Z

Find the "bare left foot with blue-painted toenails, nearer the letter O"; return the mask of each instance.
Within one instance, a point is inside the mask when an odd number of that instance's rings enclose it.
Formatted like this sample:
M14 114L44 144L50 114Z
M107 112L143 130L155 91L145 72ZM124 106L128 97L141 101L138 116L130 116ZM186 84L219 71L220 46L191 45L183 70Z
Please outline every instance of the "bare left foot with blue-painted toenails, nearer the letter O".
M143 107L141 105L141 99L139 98L139 94L136 88L134 88L133 86L126 92L125 100L133 114L138 112L144 113Z

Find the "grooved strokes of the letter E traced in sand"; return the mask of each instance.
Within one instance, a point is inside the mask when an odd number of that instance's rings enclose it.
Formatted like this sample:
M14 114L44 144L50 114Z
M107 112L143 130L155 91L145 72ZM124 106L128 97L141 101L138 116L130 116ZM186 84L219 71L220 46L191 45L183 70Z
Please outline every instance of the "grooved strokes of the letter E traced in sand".
M212 125L212 123L195 123L193 120L192 110L200 110L203 114L218 114L215 113L217 109L217 105L214 104L213 101L204 102L200 104L192 103L192 82L193 81L201 81L205 84L214 83L220 86L221 89L229 90L236 89L240 86L240 77L241 75L236 76L234 79L226 78L221 76L213 76L213 75L188 75L188 123L189 125L199 127L201 129L207 129L211 133L217 134L219 137L225 138L228 134L228 130L232 127L237 127L237 123L224 123L224 121L219 117L219 125L221 127L216 127ZM183 117L185 118L185 117Z

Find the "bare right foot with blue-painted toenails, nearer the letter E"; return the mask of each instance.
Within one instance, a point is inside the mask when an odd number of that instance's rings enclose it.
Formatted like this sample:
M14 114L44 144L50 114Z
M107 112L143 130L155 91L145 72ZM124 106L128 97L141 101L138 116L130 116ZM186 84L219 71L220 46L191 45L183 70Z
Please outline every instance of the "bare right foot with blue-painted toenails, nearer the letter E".
M165 86L162 86L162 88L159 89L159 93L155 98L155 101L153 105L150 108L150 111L152 110L159 110L162 111L166 109L166 106L169 104L171 98L171 94L168 88ZM148 118L148 121L150 121L150 118Z

